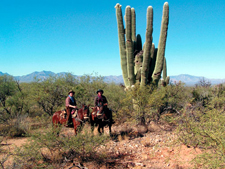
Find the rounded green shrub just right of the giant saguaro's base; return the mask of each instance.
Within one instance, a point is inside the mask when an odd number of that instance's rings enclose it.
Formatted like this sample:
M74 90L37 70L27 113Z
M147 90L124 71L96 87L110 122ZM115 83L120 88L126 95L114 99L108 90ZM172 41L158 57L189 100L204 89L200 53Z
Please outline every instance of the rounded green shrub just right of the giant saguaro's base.
M165 87L154 90L148 99L150 107L149 116L158 121L163 114L181 114L182 110L190 102L192 95L189 89L182 83L171 83ZM173 123L173 116L164 116L166 121Z

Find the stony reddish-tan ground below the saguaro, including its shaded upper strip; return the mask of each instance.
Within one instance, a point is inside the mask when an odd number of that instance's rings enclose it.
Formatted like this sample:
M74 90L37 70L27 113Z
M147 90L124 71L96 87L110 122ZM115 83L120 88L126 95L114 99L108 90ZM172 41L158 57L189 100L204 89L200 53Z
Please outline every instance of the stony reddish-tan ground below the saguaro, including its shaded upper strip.
M168 127L167 127L168 129ZM105 134L108 134L107 128ZM73 129L66 129L73 134ZM68 163L66 169L107 169L107 168L192 168L191 160L201 153L200 149L175 143L176 134L173 129L165 130L165 126L151 123L149 126L129 127L118 125L112 127L115 137L97 151L104 152L107 159L102 163L84 162ZM7 140L5 147L21 146L26 138ZM1 155L2 157L3 155ZM10 163L10 158L9 158Z

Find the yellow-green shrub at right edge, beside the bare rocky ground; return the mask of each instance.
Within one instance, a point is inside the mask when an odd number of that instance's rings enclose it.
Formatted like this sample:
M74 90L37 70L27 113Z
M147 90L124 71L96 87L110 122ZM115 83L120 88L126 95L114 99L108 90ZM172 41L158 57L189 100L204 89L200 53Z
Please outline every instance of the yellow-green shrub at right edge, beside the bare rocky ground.
M225 167L225 113L217 109L183 114L178 127L179 140L186 145L199 147L203 154L193 161L202 168Z

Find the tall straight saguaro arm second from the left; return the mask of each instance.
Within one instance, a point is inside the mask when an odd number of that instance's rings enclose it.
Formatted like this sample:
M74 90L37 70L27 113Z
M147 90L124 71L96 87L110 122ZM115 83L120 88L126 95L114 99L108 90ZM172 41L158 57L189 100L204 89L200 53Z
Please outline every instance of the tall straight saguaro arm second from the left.
M133 56L133 41L132 41L132 29L131 29L131 8L126 7L125 11L126 21L126 54L127 54L127 70L128 70L128 82L129 86L134 85L134 56Z

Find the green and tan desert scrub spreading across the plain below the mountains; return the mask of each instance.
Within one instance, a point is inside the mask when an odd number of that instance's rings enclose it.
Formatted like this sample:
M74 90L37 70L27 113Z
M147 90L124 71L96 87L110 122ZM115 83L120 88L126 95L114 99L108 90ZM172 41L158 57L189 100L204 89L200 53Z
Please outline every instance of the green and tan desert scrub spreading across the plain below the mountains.
M108 99L117 131L112 131L111 137L98 135L92 133L87 124L77 136L63 132L57 136L56 130L66 128L53 129L51 117L64 108L68 91L75 91L78 107L93 106L99 88ZM123 155L108 153L107 144L111 140L142 139L145 133L152 132L148 126L154 123L163 126L163 131L175 133L175 142L170 147L183 144L201 150L202 153L190 162L193 168L224 168L224 95L223 84L211 86L204 79L193 87L181 82L165 87L137 84L125 91L122 85L105 83L101 76L75 78L68 73L45 80L35 79L32 83L19 83L11 76L0 76L0 166L66 168L73 163L74 167L84 168L83 164L92 162L98 167L107 164L108 168L115 168L116 161ZM146 130L135 131L132 129L135 126ZM3 141L18 137L28 141L13 150L5 148ZM151 138L146 141L143 137L140 143L151 147ZM117 167L129 168L121 164Z

